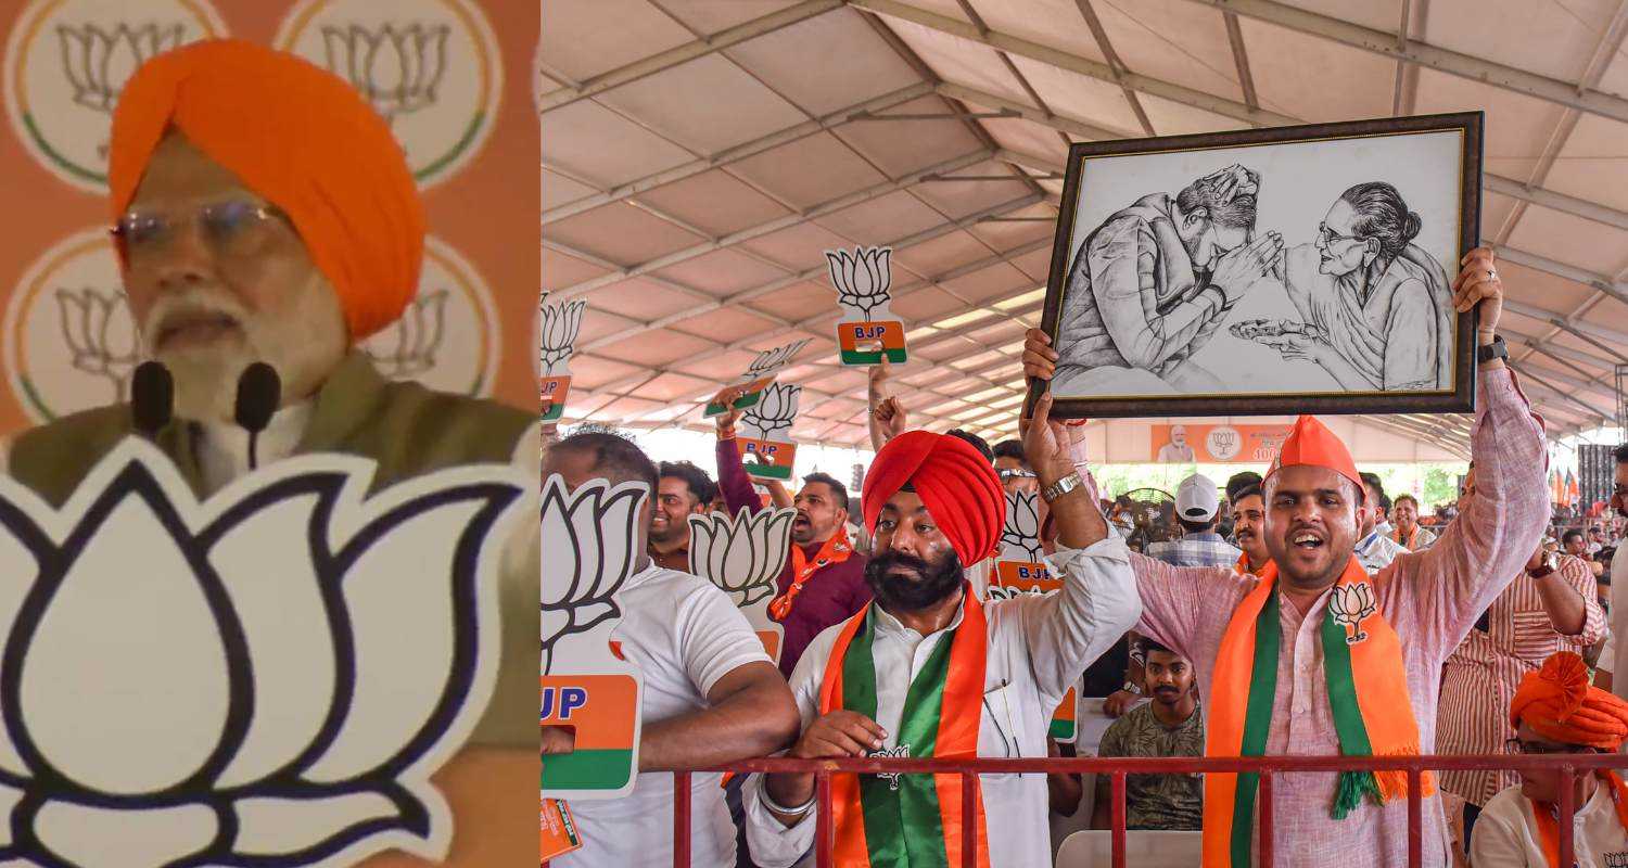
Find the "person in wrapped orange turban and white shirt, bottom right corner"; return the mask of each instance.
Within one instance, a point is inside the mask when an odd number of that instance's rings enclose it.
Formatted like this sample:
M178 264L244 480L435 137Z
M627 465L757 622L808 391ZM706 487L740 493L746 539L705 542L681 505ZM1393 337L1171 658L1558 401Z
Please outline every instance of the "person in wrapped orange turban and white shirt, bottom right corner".
M1628 702L1589 684L1581 656L1561 651L1527 673L1512 700L1511 752L1566 756L1615 752L1628 736ZM1556 868L1560 772L1521 772L1521 785L1493 796L1475 821L1475 868ZM1582 770L1573 780L1573 857L1579 868L1628 865L1628 787L1621 772Z

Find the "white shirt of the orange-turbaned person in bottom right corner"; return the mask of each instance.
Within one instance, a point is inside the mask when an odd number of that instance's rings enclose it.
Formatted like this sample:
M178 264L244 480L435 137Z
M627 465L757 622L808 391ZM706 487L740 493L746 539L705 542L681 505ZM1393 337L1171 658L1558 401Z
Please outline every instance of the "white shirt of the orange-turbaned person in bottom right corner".
M1470 861L1475 868L1548 868L1532 809L1532 800L1521 795L1519 785L1498 793L1481 808L1470 839ZM1595 787L1594 796L1573 821L1571 840L1578 868L1628 865L1628 834L1617 819L1607 783Z

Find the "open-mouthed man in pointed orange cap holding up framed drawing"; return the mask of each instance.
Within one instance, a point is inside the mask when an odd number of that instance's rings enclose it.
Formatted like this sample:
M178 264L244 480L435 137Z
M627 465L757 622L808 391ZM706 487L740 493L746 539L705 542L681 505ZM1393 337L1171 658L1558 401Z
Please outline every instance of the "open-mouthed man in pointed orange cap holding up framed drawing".
M1542 420L1496 339L1503 282L1495 256L1464 257L1459 313L1478 314L1481 347L1470 451L1478 474L1442 539L1376 575L1356 560L1364 487L1350 449L1301 417L1262 485L1258 575L1171 567L1131 555L1136 632L1193 661L1208 756L1405 756L1434 747L1441 661L1532 555L1548 521ZM1468 318L1465 318L1468 322ZM1024 375L1050 379L1058 349L1032 329ZM1423 778L1424 865L1447 861L1447 831ZM1407 775L1273 777L1275 852L1286 865L1408 865ZM1203 865L1245 868L1258 842L1258 777L1205 775Z

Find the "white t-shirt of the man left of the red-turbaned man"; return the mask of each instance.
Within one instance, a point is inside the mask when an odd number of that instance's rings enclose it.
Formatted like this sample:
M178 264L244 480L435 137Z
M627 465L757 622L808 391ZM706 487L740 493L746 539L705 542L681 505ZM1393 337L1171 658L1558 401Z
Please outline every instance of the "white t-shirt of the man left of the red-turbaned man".
M645 676L643 726L708 707L707 692L747 663L772 663L729 596L703 578L651 563L619 594L622 622L612 642ZM734 866L734 824L723 803L723 775L690 775L690 865ZM560 868L672 865L672 772L643 772L619 800L571 801L583 848L554 860Z

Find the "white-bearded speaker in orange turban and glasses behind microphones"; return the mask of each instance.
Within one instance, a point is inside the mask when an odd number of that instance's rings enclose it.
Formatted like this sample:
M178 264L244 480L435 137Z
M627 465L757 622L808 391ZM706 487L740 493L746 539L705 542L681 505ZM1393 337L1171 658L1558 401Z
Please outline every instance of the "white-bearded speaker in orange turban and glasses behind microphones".
M282 381L259 464L365 456L374 490L461 464L514 462L537 479L536 412L387 381L358 347L418 290L425 210L387 124L344 80L233 39L160 54L124 86L109 187L142 349L174 378L174 419L148 433L199 495L249 469L234 401L252 362ZM59 419L11 443L8 472L62 505L132 432L125 404ZM495 699L438 777L453 863L536 855L537 570L531 524L505 550Z

